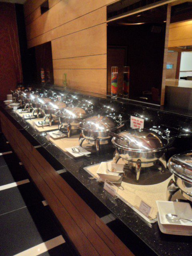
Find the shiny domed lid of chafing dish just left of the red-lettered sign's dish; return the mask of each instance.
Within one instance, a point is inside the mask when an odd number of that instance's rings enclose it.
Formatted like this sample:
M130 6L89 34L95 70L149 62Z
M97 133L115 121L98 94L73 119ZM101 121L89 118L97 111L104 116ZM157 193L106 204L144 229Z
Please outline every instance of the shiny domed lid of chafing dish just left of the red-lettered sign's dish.
M110 131L117 127L116 121L109 116L91 116L79 123L78 127L87 131Z

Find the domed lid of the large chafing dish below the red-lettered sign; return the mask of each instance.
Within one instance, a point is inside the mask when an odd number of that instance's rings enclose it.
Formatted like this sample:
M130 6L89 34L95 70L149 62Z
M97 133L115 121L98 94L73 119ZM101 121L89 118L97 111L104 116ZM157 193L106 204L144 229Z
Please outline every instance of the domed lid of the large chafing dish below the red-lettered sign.
M157 152L170 144L168 137L148 129L129 129L118 135L124 140L113 137L112 143L116 147L134 152Z

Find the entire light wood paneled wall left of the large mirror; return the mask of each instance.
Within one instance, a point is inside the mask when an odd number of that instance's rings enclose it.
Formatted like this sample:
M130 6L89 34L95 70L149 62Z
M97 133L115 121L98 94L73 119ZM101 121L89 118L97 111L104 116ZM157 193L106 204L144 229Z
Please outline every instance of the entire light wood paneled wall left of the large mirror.
M116 0L44 0L24 4L28 48L51 41L54 84L106 94L106 5Z

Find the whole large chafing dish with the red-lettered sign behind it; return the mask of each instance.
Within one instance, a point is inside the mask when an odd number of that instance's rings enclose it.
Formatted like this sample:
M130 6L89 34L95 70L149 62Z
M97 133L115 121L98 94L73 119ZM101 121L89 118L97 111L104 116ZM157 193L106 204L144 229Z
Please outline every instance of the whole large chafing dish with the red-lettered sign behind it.
M150 129L128 129L113 135L112 143L116 147L113 162L117 163L122 158L126 164L134 167L137 181L143 167L160 164L158 170L166 169L164 153L172 145L172 137Z

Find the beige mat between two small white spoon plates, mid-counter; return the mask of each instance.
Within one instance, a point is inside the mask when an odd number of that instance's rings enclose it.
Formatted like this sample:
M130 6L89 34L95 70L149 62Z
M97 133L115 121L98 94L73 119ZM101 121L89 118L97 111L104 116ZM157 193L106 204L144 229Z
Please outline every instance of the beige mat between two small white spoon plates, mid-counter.
M65 150L66 148L71 148L79 145L79 134L73 135L70 138L64 137L56 140L50 138L49 140L62 151L67 152Z

